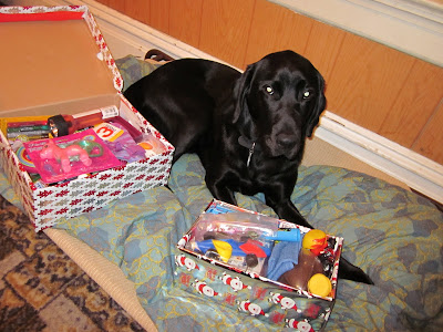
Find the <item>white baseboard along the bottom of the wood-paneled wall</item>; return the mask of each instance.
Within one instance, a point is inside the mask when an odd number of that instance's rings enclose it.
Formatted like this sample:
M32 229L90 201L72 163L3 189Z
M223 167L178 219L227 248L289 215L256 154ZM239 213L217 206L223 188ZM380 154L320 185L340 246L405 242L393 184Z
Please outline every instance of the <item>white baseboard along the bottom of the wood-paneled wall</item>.
M143 58L150 49L173 58L204 58L219 61L169 35L92 0L4 1L8 4L86 4L94 14L115 59L133 54ZM119 46L113 48L113 44ZM423 195L443 203L443 166L380 135L326 112L316 136L368 165L403 181Z

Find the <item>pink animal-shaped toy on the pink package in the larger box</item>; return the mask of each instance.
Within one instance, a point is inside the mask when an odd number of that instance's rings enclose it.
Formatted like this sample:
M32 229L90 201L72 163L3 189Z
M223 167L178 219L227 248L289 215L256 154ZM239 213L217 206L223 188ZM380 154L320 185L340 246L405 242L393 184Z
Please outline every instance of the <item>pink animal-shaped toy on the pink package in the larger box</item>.
M78 156L83 165L91 166L92 160L87 155L87 152L76 144L66 147L59 147L52 139L49 139L48 145L40 152L40 158L58 160L62 165L64 173L71 172L72 167L70 158L74 156Z

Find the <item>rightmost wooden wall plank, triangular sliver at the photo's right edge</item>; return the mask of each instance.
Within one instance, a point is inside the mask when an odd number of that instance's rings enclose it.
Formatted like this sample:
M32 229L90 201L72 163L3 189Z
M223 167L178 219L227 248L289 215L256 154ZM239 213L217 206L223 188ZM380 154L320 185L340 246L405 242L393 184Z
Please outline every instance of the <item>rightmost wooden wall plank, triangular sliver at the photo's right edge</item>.
M413 144L412 149L443 165L443 100Z

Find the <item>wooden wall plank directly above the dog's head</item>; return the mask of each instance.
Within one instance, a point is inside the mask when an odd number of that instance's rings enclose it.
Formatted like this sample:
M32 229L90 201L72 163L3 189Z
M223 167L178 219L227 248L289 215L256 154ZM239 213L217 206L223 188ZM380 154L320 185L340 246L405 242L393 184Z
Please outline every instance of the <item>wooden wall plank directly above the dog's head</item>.
M281 50L303 53L312 20L275 3L257 0L244 66Z

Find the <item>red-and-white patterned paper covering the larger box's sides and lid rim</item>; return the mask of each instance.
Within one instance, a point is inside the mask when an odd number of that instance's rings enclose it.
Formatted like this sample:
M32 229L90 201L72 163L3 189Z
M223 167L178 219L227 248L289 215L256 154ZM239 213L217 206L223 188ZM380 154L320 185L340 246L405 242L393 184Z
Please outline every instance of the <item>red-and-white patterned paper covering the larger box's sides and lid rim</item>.
M120 95L120 114L144 133L151 133L165 146L165 152L150 156L143 160L106 169L85 178L78 178L65 184L37 188L29 174L20 164L8 139L0 132L0 165L7 174L23 209L32 220L35 231L52 227L62 218L72 218L84 212L100 209L115 199L140 193L156 186L166 185L174 147L130 104L121 90L123 80L111 52L97 28L97 24L85 6L63 7L2 7L0 22L9 17L21 14L53 13L53 18L69 17L70 12L82 13L91 30L92 38L97 43L101 54L113 74L116 94ZM59 14L58 14L59 13ZM79 19L75 17L75 19Z

